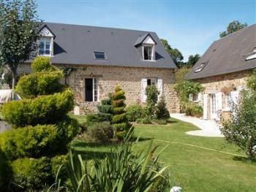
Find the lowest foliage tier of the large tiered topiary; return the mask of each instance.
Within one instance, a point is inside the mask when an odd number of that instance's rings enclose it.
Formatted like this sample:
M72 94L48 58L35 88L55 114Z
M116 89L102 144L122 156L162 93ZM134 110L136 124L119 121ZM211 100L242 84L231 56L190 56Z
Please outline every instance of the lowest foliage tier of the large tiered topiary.
M46 183L53 183L50 158L18 158L12 161L14 191L39 191Z

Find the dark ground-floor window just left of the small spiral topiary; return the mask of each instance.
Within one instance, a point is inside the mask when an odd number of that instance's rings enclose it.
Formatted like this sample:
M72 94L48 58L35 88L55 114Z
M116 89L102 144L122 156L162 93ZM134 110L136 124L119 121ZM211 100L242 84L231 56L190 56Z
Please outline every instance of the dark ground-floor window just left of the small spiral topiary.
M99 79L86 78L85 101L99 101Z

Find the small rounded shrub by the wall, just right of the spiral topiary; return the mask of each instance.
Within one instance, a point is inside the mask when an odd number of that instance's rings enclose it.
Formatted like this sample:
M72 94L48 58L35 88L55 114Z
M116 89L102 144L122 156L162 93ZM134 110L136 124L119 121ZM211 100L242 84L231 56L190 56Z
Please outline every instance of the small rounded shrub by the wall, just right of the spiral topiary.
M136 121L138 118L143 118L145 112L140 104L130 105L126 108L127 118L129 121Z

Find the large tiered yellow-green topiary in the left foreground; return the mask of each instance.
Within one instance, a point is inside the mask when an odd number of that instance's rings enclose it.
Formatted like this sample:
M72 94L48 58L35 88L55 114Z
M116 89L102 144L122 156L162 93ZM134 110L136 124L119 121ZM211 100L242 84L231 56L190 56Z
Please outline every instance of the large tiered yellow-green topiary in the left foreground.
M77 134L78 121L67 115L73 93L61 85L62 78L50 58L35 58L32 73L16 86L23 100L2 107L4 119L12 124L12 130L0 134L0 150L12 168L12 191L41 191L54 183L67 145Z

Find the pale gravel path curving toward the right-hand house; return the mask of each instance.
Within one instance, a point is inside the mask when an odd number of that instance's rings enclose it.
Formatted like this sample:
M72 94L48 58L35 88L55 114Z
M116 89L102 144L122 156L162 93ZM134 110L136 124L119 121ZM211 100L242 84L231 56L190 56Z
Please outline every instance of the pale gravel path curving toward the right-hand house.
M187 131L186 134L202 137L224 137L219 131L219 125L214 120L203 120L200 118L194 118L186 116L183 113L173 113L170 114L170 116L178 120L183 120L187 123L192 123L201 129L197 131Z

